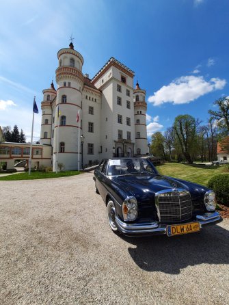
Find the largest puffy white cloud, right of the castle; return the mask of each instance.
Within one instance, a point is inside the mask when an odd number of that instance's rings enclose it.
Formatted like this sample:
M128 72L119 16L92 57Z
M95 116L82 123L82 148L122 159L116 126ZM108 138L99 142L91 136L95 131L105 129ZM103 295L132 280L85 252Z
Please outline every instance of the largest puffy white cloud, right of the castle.
M149 96L148 102L154 106L163 103L186 104L196 100L200 96L215 90L221 90L226 85L225 79L212 78L206 81L202 76L183 76L174 79L169 85L163 85L161 89Z

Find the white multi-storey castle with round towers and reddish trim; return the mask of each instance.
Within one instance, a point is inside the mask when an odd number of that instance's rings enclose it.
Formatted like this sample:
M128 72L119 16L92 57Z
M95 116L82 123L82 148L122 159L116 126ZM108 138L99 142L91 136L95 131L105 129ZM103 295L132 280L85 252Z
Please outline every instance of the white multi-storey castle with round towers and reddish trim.
M111 57L89 79L82 74L83 57L72 43L57 57L57 90L53 83L43 90L40 133L40 144L51 146L53 170L57 163L65 170L82 168L79 135L84 136L83 165L105 157L146 155L146 91L138 83L133 89L134 72Z

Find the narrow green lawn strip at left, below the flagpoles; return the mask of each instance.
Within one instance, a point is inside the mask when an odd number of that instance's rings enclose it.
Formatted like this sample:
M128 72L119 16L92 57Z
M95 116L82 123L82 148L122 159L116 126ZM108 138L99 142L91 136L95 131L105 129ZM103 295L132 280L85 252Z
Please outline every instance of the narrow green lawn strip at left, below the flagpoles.
M0 176L0 181L3 180L32 180L32 179L44 179L44 178L59 178L66 176L78 175L80 172L77 170L72 170L69 172L22 172L20 174L10 174L9 176Z

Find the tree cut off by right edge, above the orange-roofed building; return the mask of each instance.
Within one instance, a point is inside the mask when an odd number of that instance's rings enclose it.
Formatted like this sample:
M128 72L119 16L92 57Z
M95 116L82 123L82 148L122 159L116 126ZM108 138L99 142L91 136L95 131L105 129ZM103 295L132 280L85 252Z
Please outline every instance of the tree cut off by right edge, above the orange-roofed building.
M229 135L229 98L224 96L214 102L219 110L208 110L208 114L211 115L211 119L217 120L218 127L224 135Z

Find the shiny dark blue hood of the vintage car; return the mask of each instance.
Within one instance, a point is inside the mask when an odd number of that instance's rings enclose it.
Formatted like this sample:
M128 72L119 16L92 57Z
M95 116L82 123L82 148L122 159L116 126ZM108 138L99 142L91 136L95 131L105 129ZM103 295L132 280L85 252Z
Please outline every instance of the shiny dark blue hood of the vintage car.
M208 190L202 185L181 181L180 179L162 176L160 174L116 176L114 181L120 187L128 190L140 202L147 202L158 191L174 189L175 187L189 191L192 200L198 200L198 198L203 197Z

